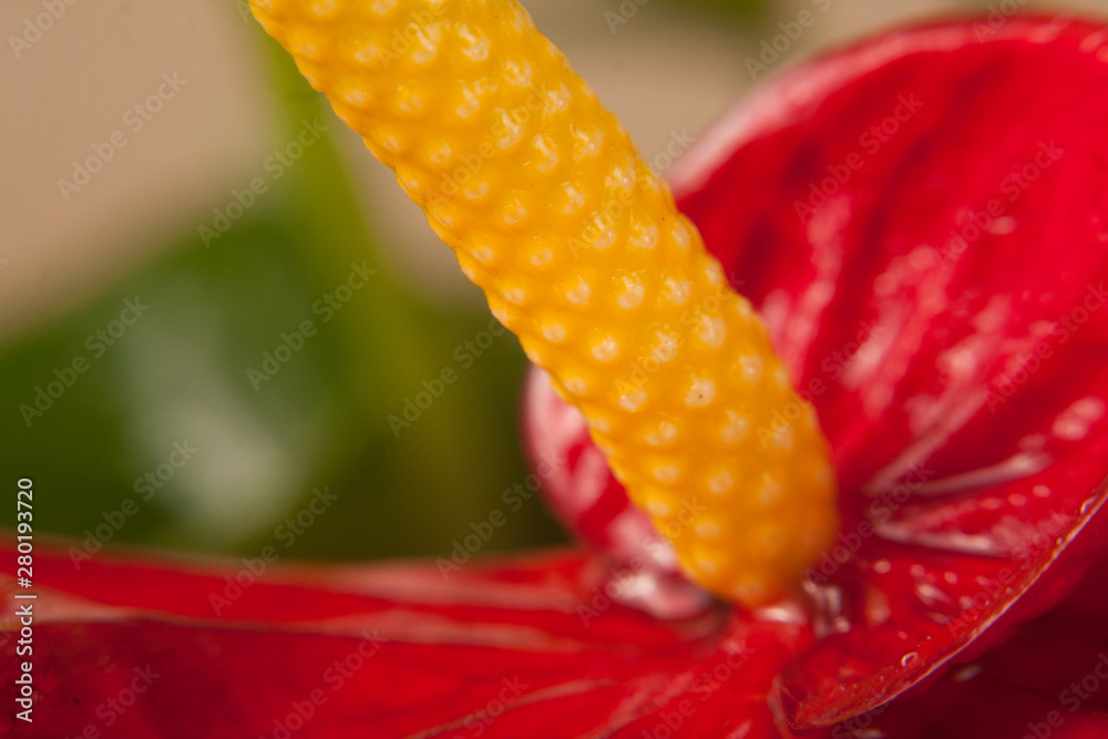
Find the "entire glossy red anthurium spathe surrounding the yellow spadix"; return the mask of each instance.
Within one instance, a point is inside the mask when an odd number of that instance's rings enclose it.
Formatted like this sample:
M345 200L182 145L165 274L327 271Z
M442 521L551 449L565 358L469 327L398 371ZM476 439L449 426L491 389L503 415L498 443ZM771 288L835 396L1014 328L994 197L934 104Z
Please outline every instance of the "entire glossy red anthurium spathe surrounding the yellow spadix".
M745 608L680 579L538 377L529 444L567 460L554 507L598 553L444 578L433 563L263 577L136 555L78 573L40 552L35 721L12 726L1098 736L1106 83L1108 32L1088 23L895 32L763 88L676 175L798 391L750 433L772 443L810 403L830 442L841 524L803 591Z

